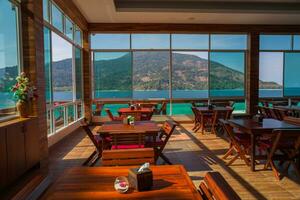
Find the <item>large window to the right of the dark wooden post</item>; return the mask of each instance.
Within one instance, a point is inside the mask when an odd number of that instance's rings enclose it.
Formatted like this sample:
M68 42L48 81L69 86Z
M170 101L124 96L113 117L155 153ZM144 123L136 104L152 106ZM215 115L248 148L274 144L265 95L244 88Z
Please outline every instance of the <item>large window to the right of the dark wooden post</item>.
M260 97L300 95L299 41L299 35L260 35Z

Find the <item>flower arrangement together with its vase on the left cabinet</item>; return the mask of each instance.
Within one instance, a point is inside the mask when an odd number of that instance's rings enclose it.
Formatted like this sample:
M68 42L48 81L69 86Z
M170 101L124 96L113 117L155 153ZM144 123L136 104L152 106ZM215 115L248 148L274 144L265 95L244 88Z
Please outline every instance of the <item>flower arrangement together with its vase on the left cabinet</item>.
M16 84L11 88L17 101L16 107L20 117L28 117L30 103L37 98L36 88L30 84L29 78L24 72L17 76L16 81Z

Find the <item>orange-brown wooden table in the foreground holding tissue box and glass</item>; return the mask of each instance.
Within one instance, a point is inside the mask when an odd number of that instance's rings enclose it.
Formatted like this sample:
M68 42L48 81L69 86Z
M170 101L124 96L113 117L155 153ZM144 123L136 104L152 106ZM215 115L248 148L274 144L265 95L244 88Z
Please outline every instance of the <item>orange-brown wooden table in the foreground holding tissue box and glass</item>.
M120 194L114 189L118 176L127 176L125 167L78 167L67 170L46 191L42 199L202 199L182 165L151 166L153 187L150 191L138 192L129 189Z

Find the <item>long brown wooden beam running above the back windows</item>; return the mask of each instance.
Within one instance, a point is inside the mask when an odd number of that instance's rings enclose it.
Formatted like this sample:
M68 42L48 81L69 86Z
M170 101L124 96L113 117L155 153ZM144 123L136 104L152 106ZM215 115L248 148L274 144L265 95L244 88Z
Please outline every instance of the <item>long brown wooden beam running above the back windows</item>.
M89 23L90 32L162 32L162 33L228 33L276 32L299 33L298 25L245 24L155 24L155 23Z

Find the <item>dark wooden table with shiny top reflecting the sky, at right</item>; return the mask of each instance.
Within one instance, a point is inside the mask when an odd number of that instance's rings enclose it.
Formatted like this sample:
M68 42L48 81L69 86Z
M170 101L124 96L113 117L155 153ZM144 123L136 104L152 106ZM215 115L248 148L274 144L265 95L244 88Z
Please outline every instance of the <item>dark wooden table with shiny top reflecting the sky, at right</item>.
M231 119L229 123L241 131L251 135L251 170L255 171L256 141L263 134L271 134L274 129L300 129L300 126L292 125L276 119L263 119L262 123L253 119Z

